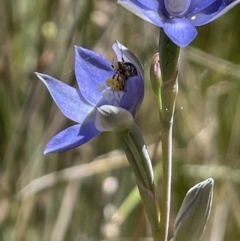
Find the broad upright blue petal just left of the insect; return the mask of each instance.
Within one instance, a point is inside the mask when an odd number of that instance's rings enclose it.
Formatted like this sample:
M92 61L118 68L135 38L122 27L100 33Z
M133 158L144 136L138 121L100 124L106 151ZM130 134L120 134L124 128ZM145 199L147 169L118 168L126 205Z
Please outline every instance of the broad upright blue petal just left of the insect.
M92 105L102 98L99 84L113 76L112 64L102 55L75 47L75 75L83 97Z

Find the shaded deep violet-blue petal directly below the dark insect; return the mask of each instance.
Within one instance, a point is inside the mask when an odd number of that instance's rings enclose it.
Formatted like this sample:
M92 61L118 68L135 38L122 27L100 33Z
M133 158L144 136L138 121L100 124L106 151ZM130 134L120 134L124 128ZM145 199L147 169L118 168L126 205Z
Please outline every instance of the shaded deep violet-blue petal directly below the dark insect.
M136 115L144 96L144 83L140 76L134 76L127 80L125 86L126 93L123 95L120 107Z

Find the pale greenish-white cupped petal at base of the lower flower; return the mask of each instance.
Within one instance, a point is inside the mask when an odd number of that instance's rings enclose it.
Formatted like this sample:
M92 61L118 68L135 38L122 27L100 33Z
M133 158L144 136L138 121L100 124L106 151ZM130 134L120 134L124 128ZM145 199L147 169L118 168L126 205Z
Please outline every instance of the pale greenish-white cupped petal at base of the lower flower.
M99 131L125 131L132 127L132 114L112 105L102 105L97 108L95 126Z

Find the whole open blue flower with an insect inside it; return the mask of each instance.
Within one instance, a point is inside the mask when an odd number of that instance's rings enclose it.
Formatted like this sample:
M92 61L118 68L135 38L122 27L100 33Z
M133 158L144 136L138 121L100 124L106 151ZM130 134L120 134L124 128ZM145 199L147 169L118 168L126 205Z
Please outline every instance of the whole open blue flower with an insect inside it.
M116 69L102 55L75 47L77 89L36 73L62 113L78 123L55 135L44 154L75 148L102 131L115 131L121 124L127 128L126 120L131 122L135 117L144 95L143 68L136 56L119 42L115 41L113 49L118 61ZM127 115L131 117L124 118ZM119 116L123 116L123 122L116 122L121 119Z

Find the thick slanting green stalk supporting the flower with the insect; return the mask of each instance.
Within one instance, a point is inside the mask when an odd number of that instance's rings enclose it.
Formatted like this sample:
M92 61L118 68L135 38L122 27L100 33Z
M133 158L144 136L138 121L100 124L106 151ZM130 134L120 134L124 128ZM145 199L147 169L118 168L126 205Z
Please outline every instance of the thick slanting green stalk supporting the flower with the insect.
M139 193L151 224L153 235L159 231L158 207L155 201L154 177L150 157L136 124L128 131L117 132L129 164L136 177Z

